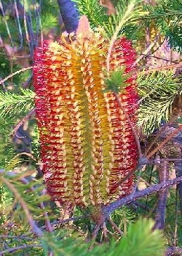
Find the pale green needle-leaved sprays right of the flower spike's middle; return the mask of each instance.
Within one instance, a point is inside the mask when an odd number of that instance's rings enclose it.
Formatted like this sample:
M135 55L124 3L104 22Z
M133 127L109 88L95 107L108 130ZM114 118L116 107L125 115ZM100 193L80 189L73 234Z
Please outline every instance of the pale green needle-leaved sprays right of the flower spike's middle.
M162 121L169 120L174 99L181 92L181 81L173 72L141 72L137 83L141 96L138 126L150 134Z

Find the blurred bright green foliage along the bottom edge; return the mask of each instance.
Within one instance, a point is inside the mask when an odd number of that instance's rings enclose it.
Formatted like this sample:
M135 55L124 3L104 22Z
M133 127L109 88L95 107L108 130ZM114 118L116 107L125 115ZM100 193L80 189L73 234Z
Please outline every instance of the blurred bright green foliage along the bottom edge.
M100 255L115 256L157 256L164 252L164 240L159 230L151 231L154 222L147 219L140 219L128 228L121 240L111 244L93 245L89 249L90 244L83 241L82 238L66 236L66 233L50 234L44 233L41 238L41 244L44 255L52 251L55 256L96 256ZM88 250L89 249L89 250Z

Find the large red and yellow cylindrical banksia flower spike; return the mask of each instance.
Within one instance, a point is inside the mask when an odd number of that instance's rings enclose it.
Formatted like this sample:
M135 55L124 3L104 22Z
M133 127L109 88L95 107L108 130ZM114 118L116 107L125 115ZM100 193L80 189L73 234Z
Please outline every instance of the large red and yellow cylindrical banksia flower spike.
M33 74L47 190L52 200L87 207L132 192L133 177L117 184L135 168L138 150L126 116L107 90L108 41L81 25L76 34L36 50ZM134 62L131 42L116 40L111 70L124 67L124 75L130 73L119 97L135 127Z

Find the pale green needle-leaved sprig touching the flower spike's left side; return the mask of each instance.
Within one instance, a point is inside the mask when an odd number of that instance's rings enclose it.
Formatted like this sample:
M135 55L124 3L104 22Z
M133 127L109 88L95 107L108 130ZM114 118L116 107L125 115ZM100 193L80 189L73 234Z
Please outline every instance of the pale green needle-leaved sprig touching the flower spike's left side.
M33 109L35 94L29 89L20 89L21 94L0 91L0 115L4 118L15 118L17 114Z

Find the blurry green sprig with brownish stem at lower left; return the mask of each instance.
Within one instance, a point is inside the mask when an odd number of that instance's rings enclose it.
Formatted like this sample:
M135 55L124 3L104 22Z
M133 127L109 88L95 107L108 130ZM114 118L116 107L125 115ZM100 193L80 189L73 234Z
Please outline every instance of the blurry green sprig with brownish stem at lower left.
M36 170L34 171L36 172ZM24 207L28 209L30 212L29 214L32 215L33 219L39 223L44 223L45 213L50 212L50 208L48 206L44 208L41 207L41 203L50 200L48 195L44 195L44 193L42 193L44 191L43 182L41 179L28 181L32 179L31 174L32 170L24 173L20 172L16 176L15 173L11 172L8 172L7 174L3 173L0 176L1 181L4 181L2 177L8 181L9 184L5 184L5 187L7 187L8 190L14 194L13 199L15 202L13 203L13 217L15 222L17 222L18 225L25 225L26 229L28 228L28 219L27 211ZM4 211L6 211L6 215L10 217L12 208L7 208L7 210ZM4 230L0 230L0 233L3 232ZM20 230L17 230L17 232L20 232Z

